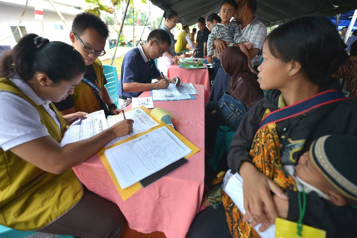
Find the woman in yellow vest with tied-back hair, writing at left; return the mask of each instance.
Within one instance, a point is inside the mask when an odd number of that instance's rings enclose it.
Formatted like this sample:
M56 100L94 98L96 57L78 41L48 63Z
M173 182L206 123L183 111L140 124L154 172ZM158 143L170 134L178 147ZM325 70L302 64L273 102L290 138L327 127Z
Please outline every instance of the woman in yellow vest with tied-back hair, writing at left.
M73 47L29 34L0 61L0 224L23 231L119 237L120 209L88 191L72 167L132 130L132 120L61 147L86 113L62 116L53 102L72 94L85 71Z

